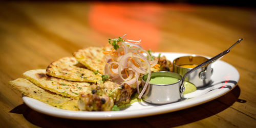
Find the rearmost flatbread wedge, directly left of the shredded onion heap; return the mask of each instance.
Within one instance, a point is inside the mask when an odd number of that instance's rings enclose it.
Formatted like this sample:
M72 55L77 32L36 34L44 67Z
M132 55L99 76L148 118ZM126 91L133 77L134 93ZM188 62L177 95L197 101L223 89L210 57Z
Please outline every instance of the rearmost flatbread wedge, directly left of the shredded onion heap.
M105 50L111 50L110 47L106 47ZM102 53L102 47L88 47L80 49L77 52L73 53L73 56L84 66L93 70L99 71L103 74L105 61L104 54Z

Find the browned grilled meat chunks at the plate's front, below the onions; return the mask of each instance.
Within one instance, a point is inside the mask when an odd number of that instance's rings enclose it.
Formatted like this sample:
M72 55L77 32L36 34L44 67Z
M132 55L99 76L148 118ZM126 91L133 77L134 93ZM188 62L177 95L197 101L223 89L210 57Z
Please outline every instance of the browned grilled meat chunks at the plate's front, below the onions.
M135 91L129 85L118 85L111 81L91 85L91 93L79 94L79 109L86 111L110 111L114 105L122 106L131 100Z

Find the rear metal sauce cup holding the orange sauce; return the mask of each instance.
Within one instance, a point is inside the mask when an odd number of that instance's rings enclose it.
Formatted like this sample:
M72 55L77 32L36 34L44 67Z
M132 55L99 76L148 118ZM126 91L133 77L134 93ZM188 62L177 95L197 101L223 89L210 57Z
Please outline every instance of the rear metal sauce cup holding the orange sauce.
M208 59L202 56L192 55L176 58L173 62L173 72L179 73L182 76L193 69L181 67L181 65L199 65ZM191 72L186 78L185 81L193 83L197 88L207 86L210 83L211 75L213 69L211 68L211 63L205 65L194 72Z

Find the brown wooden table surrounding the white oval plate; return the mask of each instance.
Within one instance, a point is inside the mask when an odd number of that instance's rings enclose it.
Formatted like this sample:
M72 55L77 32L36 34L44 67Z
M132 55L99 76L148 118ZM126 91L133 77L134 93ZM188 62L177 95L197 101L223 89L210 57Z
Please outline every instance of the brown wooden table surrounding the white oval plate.
M1 127L255 127L256 13L253 8L168 3L36 2L0 4ZM208 103L162 115L112 121L70 120L38 113L8 82L31 69L103 46L127 34L155 52L215 56L240 73L238 85Z

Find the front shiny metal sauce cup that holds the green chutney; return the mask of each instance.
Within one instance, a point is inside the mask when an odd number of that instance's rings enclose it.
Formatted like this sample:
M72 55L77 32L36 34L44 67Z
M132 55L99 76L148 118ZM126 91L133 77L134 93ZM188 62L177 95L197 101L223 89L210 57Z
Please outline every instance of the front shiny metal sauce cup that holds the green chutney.
M144 87L147 79L147 75L142 76L142 86ZM178 73L168 72L168 71L159 71L152 72L151 77L154 76L170 76L177 78L179 82L161 85L161 84L150 84L148 83L147 89L143 100L150 104L163 105L179 101L182 98L182 93L184 88L181 89L182 85L182 76Z

